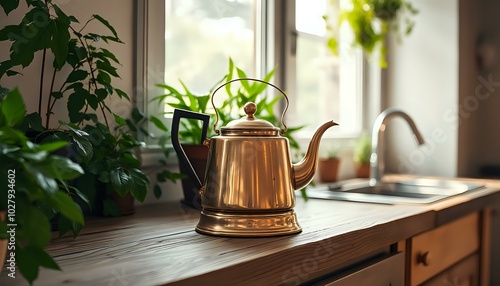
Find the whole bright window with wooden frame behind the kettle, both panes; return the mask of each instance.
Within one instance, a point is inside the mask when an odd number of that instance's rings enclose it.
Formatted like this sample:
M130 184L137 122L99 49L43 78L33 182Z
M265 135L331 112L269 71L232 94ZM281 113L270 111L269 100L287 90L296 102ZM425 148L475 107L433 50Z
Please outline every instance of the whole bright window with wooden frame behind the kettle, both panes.
M163 107L147 100L161 94L156 83L206 92L226 73L228 57L260 78L277 67L274 82L290 97L287 125L306 125L310 137L321 123L341 123L335 137L355 137L363 127L363 57L326 47L322 16L335 13L329 0L169 0L137 1L138 35L144 50L138 67L139 104L148 112ZM342 2L342 1L341 1ZM275 33L275 31L281 31ZM144 33L141 33L144 32ZM349 35L342 31L340 42ZM143 101L140 99L144 98ZM153 127L151 126L153 129Z

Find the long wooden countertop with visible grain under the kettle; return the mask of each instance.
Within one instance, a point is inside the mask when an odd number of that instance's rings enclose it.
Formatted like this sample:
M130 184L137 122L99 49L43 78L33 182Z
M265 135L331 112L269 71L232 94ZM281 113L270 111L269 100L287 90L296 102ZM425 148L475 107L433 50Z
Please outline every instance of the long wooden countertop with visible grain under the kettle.
M35 285L278 285L346 266L468 212L500 201L500 185L431 205L297 200L303 231L270 238L198 234L197 211L178 203L138 207L121 218L91 218L81 234L48 247L63 271L41 269ZM27 285L0 275L0 285Z

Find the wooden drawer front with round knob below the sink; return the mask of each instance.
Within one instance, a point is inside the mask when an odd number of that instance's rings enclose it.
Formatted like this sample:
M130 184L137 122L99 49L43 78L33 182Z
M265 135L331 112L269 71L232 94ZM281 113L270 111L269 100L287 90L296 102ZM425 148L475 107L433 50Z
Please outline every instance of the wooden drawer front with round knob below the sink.
M479 238L478 213L411 238L410 284L419 285L475 253Z

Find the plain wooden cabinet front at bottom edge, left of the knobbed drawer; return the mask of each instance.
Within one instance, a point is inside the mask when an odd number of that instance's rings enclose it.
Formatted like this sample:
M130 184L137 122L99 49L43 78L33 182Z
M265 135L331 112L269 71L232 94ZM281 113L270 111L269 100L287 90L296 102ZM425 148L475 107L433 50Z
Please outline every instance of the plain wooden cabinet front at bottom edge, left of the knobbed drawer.
M401 252L334 281L323 281L321 284L328 286L403 286L404 271L405 255Z

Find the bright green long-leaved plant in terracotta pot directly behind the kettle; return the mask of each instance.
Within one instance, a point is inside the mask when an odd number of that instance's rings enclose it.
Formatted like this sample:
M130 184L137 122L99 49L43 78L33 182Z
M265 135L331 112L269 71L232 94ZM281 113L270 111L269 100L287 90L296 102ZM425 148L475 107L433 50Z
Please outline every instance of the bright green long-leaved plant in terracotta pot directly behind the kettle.
M273 75L274 70L267 73L263 80L269 82ZM179 91L170 85L158 84L157 86L165 89L166 93L156 97L154 100L157 100L160 104L166 104L173 108L198 113L210 113L212 124L209 124L209 126L213 126L213 122L215 122L215 114L211 106L209 106L210 96L216 87L218 87L221 83L229 82L235 79L235 76L238 78L248 78L245 71L235 66L234 62L230 58L227 74L224 75L221 81L217 82L206 94L193 94L181 81L183 86L182 91ZM267 85L265 83L252 81L241 81L241 85L239 85L236 89L232 84L226 85L225 91L227 94L224 95L225 98L221 97L221 103L219 103L216 107L219 111L219 126L225 126L230 121L241 118L243 116L243 106L247 102L257 103L257 111L255 113L256 117L279 126L281 124L281 118L280 116L276 116L275 109L277 108L276 104L281 98L264 96L266 88ZM208 148L201 144L201 141L205 139L202 136L202 122L197 120L186 120L185 122L181 122L181 126L182 129L179 131L179 140L183 143L183 149L193 164L198 177L203 181ZM293 132L299 130L300 128L302 127L288 128L288 131L285 134L290 141L291 148L295 150L299 149L299 145L292 135ZM209 128L208 131L208 137L215 135L211 128ZM191 182L187 176L187 171L185 171L184 166L181 165L179 167L181 169L181 173L183 173L185 177L182 180L184 192L184 199L182 202L192 207L201 208L200 196L198 194L199 190L194 187L195 184Z

